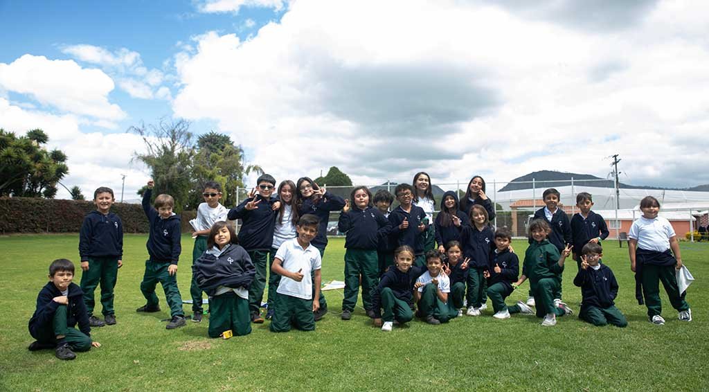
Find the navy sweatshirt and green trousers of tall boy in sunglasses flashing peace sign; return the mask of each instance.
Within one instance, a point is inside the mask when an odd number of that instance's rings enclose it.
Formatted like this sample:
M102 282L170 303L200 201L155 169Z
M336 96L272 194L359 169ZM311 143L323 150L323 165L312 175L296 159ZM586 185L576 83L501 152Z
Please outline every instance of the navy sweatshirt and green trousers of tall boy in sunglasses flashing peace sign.
M258 208L247 210L246 204L251 201L259 201ZM272 205L276 201L277 198L274 196L264 198L257 194L254 198L242 201L227 215L230 220L241 219L242 225L238 235L239 245L249 253L256 269L256 276L249 286L249 310L252 315L260 313L261 300L266 287L267 252L271 250L273 244L277 215L277 211L273 211Z

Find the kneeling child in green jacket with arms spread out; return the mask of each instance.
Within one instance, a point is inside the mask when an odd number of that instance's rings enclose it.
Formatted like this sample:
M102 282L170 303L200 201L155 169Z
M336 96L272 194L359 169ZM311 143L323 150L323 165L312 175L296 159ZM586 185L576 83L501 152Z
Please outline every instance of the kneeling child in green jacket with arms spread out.
M557 325L557 315L574 313L566 303L554 303L554 292L562 284L564 260L571 253L571 247L565 247L559 255L557 247L547 240L547 235L552 233L552 228L549 228L546 219L532 220L529 230L533 242L525 252L522 276L512 286L516 289L527 280L527 277L530 279L530 292L537 304L537 317L543 316L542 325L551 327ZM519 308L522 311L523 308ZM510 313L517 313L517 310L510 308Z

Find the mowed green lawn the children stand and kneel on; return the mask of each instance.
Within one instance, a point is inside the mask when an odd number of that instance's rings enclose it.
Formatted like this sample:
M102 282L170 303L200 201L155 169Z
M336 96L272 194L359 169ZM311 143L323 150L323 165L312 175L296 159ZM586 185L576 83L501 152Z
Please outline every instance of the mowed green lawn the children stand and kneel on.
M328 291L330 313L315 332L269 332L268 322L253 325L246 337L209 339L208 321L165 330L168 307L138 314L146 258L145 235L125 235L123 268L116 286L118 325L94 328L102 347L77 359L55 359L53 351L29 352L27 322L35 298L47 281L52 259L78 261L78 235L0 237L0 390L1 391L700 391L709 388L706 341L709 244L682 243L685 264L697 281L688 289L694 320L683 323L662 291L666 325L647 322L635 301L627 249L605 243L603 258L618 278L616 305L627 328L593 327L576 315L542 327L534 317L495 320L464 316L432 326L415 320L381 332L357 308L350 321L339 318L342 291ZM191 248L184 236L178 281L189 298ZM344 240L331 239L323 262L323 281L342 280ZM526 242L515 240L523 254ZM78 263L77 267L78 267ZM576 265L564 273L564 301L579 310L573 286ZM74 281L78 284L81 272ZM528 286L513 293L526 298ZM96 291L99 302L99 291ZM488 302L489 306L490 302ZM96 313L101 306L97 304ZM187 315L189 305L184 306Z

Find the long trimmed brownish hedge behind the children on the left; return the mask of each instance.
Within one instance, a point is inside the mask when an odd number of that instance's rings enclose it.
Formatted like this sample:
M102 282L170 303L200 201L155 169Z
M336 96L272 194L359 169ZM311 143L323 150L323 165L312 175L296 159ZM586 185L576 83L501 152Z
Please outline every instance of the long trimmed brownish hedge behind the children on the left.
M54 198L0 198L0 233L78 233L84 216L96 209L92 201ZM123 233L147 233L150 226L140 204L116 203L111 212L121 217ZM182 231L191 232L195 211L181 214Z

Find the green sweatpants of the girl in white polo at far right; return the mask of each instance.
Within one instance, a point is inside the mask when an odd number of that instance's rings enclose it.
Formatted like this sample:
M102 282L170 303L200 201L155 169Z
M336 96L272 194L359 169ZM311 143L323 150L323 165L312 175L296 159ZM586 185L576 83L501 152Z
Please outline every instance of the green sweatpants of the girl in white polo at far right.
M679 312L689 308L689 304L684 300L687 292L685 291L682 295L679 294L674 265L644 264L642 266L642 296L645 298L645 306L647 306L647 315L649 317L662 313L659 282L662 282L662 286L664 286L673 308Z

